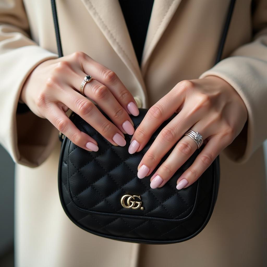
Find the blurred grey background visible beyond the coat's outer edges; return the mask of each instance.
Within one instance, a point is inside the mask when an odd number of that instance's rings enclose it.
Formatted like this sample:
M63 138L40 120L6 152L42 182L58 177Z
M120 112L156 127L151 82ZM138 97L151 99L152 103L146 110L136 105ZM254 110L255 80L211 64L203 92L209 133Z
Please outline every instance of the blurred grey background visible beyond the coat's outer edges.
M267 177L267 140L264 142ZM14 162L0 145L0 267L14 266Z

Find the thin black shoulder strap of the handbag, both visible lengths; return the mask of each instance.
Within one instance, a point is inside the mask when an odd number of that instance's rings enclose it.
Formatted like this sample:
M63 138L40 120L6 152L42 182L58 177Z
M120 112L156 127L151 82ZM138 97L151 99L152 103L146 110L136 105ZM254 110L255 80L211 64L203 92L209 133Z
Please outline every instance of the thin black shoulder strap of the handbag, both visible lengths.
M59 26L58 26L58 19L57 19L57 8L56 8L56 1L51 0L51 5L52 5L52 12L53 12L53 19L54 19L54 26L55 26L55 33L56 33L56 38L57 38L57 50L58 50L58 56L62 57L62 45L61 45L61 38L60 38L60 32L59 32ZM225 25L222 31L222 36L221 36L221 41L219 43L219 48L218 48L218 53L216 56L215 60L215 65L221 61L222 57L222 52L223 52L223 47L225 44L227 32L229 29L230 21L232 18L233 10L234 10L234 5L235 5L235 0L231 0L229 8L228 8L228 13L225 21Z

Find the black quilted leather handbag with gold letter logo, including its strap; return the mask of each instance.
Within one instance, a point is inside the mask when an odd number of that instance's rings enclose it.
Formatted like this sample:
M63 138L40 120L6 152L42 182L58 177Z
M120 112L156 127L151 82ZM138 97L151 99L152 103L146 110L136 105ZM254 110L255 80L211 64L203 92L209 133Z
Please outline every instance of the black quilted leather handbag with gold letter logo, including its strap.
M56 5L51 1L58 52L62 56ZM216 63L221 57L234 2L230 2ZM130 115L135 129L147 110L140 108L139 116ZM218 194L219 156L197 182L185 189L176 189L177 179L191 166L205 144L161 188L150 187L155 171L144 179L137 177L137 166L143 155L175 115L164 121L142 151L132 155L128 153L131 136L125 135L126 146L113 146L76 113L70 115L76 127L92 136L99 146L97 152L89 152L60 136L63 142L58 167L59 195L65 213L78 227L121 241L170 244L188 240L206 226Z

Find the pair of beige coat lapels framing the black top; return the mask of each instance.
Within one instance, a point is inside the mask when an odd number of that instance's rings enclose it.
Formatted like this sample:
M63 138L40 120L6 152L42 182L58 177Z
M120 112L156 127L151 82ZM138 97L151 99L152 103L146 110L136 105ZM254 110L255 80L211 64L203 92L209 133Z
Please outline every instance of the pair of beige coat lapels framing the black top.
M151 18L148 25L146 42L139 67L131 37L124 20L123 13L118 0L81 0L109 44L129 68L132 74L144 88L143 75L146 71L148 60L167 28L172 16L174 15L181 0L154 0Z

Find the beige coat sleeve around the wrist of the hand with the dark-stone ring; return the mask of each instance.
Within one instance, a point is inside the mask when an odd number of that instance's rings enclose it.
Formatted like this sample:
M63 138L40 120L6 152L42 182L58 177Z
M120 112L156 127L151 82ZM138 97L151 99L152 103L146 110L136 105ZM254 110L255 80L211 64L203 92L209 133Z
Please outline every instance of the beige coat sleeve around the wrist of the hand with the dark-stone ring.
M17 114L22 86L41 62L57 58L30 38L22 0L0 4L0 144L14 162L39 166L52 151L57 129L33 112Z

